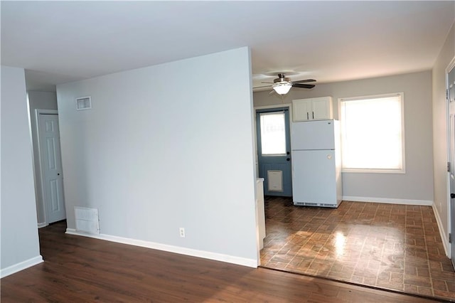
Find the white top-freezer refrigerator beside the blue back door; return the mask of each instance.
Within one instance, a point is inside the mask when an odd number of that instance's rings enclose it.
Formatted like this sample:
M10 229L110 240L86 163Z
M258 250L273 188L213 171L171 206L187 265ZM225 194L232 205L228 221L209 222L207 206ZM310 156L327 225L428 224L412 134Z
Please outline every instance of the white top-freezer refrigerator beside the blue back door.
M292 198L296 206L337 208L342 200L337 120L294 122L291 127Z

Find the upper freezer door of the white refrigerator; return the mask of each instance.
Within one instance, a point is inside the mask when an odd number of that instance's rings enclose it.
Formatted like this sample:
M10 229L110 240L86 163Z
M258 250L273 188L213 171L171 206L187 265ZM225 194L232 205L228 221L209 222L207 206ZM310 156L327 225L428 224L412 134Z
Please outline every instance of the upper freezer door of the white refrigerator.
M291 149L335 149L335 120L294 122L291 129Z

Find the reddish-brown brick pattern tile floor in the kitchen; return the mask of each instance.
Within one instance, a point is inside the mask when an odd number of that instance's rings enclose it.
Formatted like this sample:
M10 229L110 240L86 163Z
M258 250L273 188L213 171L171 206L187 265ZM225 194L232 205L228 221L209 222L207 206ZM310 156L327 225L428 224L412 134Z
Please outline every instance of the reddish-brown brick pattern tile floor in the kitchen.
M294 206L266 197L261 265L455 299L455 272L430 206L343 201Z

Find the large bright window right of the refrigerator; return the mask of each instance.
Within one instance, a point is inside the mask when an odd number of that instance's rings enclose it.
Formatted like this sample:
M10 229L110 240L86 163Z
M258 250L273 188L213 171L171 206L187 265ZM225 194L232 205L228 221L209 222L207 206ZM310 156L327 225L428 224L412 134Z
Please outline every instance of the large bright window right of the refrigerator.
M403 93L340 99L346 172L405 172Z

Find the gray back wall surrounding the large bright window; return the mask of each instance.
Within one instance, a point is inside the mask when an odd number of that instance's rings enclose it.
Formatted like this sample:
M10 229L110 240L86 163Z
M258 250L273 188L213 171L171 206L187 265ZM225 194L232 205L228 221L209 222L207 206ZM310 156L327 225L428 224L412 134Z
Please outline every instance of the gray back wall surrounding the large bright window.
M397 199L419 203L433 200L432 72L319 84L312 90L292 89L281 100L269 92L255 92L255 107L291 103L293 99L333 97L338 119L338 98L405 93L406 174L343 173L343 196L360 200ZM384 117L385 121L387 117Z

